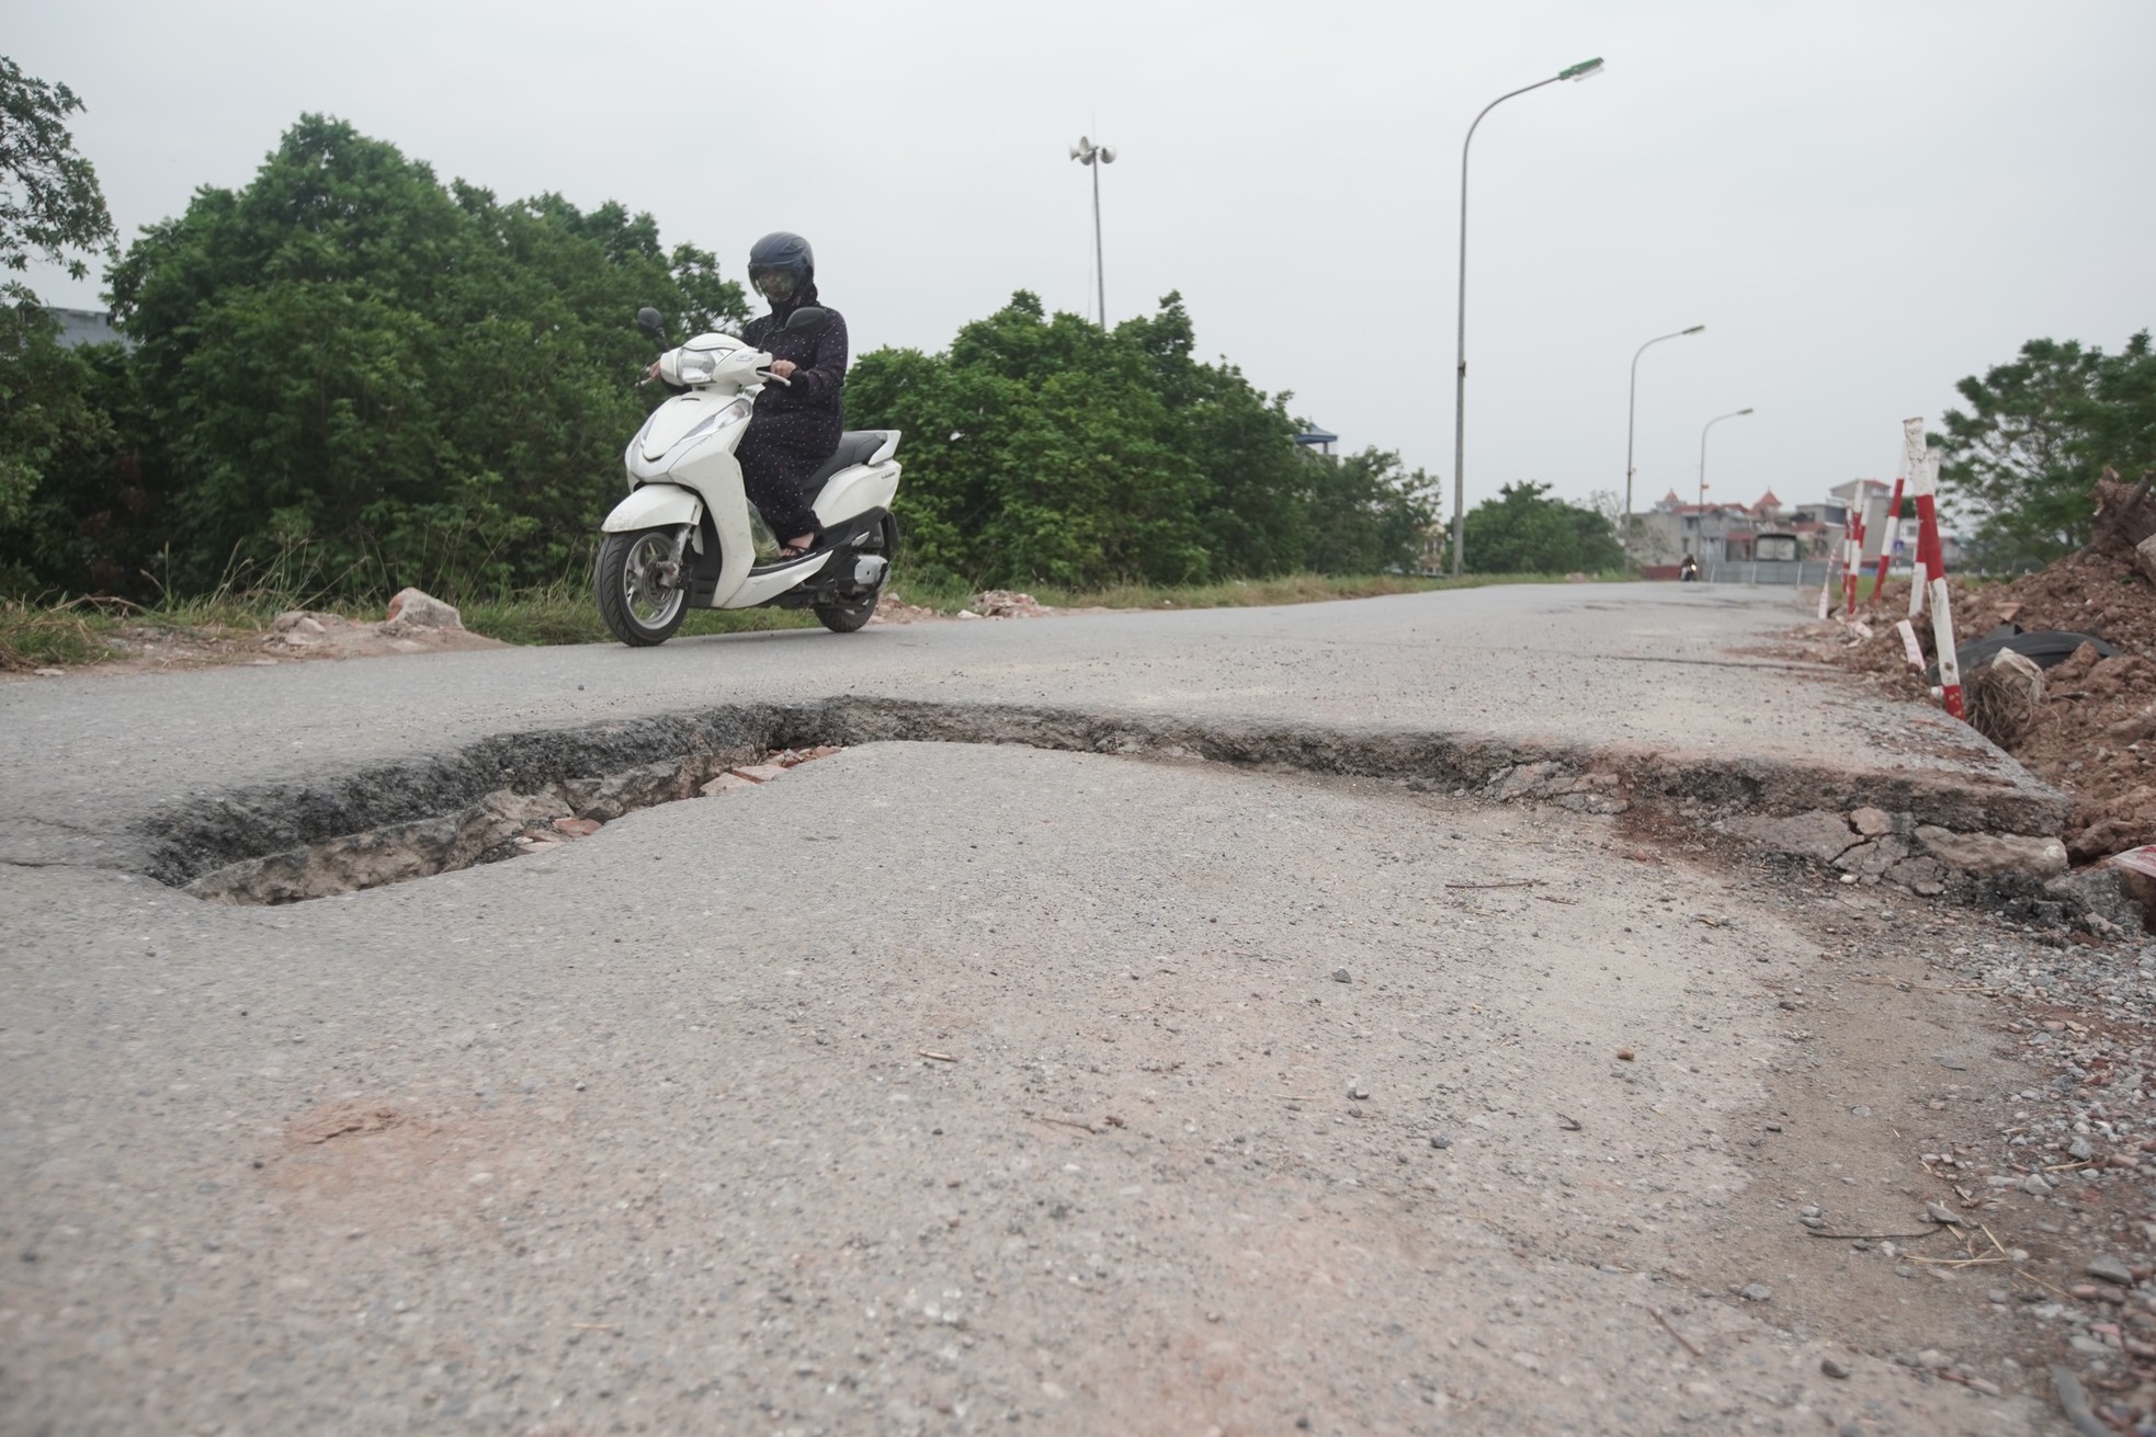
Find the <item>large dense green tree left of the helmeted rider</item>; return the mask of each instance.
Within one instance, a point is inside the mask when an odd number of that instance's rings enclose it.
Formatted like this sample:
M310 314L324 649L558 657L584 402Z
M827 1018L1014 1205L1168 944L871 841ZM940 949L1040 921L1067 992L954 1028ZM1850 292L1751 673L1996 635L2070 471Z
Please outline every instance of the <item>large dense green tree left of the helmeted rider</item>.
M293 545L330 584L492 590L573 571L653 396L638 306L746 319L649 215L444 187L302 116L244 190L201 190L112 271L160 437L175 584Z

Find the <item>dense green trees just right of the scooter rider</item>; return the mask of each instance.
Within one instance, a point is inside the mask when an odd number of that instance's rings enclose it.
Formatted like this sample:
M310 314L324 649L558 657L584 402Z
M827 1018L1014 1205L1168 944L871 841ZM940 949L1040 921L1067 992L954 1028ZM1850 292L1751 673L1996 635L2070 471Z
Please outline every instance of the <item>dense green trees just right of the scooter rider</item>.
M1395 457L1294 446L1287 394L1194 358L1179 295L1104 332L1020 291L946 353L867 353L856 424L906 431L916 564L975 584L1181 584L1388 569L1427 521Z

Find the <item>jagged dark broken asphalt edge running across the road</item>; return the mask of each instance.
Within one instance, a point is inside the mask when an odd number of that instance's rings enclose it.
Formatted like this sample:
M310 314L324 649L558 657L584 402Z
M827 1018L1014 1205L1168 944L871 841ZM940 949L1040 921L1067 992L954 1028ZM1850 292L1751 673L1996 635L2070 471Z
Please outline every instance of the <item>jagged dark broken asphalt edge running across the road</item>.
M1846 763L1539 743L1473 733L1179 720L1160 713L839 696L724 704L636 720L492 735L446 754L315 771L166 801L123 834L65 842L80 862L185 888L229 864L444 819L502 791L619 773L688 754L877 741L1018 743L1130 758L1192 758L1250 769L1384 778L1485 801L1548 801L1623 812L1684 804L1699 821L1874 806L1960 832L2055 836L2068 797L2007 771L1861 769ZM75 838L88 838L75 834ZM69 860L58 860L69 862Z

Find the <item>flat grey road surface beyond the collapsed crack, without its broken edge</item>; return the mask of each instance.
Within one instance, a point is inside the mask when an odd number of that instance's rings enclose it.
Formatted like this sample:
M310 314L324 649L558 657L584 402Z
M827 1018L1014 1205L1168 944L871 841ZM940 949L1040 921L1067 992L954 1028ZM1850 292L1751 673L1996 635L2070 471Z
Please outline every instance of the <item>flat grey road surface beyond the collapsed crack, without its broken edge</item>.
M1761 657L1787 590L1498 586L1358 603L783 631L619 646L0 685L0 860L125 849L155 808L263 780L444 754L500 733L744 702L884 696L1194 722L1404 730L1815 782L1960 789L2027 776L1971 730ZM1861 789L1861 782L1858 782ZM1781 795L1785 801L1792 795ZM1908 801L1887 804L1908 808ZM1986 814L2029 827L2014 812ZM1964 823L1977 827L1977 823Z

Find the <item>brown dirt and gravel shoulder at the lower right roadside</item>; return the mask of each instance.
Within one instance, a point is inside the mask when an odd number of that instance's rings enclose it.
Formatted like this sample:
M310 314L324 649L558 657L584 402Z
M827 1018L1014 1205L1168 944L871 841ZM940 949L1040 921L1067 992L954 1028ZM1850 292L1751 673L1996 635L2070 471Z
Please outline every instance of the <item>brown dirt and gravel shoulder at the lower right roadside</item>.
M1753 1191L1690 1260L1781 1273L1779 1306L1919 1381L2055 1398L2061 1364L2096 1431L2143 1431L2156 937L2072 941L1699 842L1662 855L1785 909L1813 948L1787 972L1759 957L1779 1056L1736 1140Z

